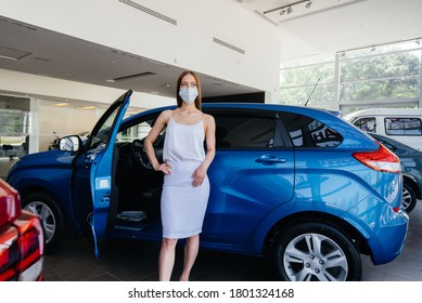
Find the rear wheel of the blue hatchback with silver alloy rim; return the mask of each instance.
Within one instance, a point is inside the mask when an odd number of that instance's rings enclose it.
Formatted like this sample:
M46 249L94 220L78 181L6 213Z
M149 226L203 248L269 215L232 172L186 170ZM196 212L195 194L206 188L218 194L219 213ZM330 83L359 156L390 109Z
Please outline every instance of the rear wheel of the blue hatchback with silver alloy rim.
M286 281L358 281L362 265L354 242L324 223L289 227L276 239L273 268Z

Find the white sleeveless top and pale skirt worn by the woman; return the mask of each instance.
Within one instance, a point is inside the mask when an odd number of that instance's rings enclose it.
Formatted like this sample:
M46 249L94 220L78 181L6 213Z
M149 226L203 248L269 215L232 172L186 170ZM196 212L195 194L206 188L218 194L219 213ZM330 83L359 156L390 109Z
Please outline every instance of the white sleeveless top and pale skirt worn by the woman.
M188 238L202 232L209 197L209 180L192 185L193 171L204 161L204 122L181 124L170 117L164 141L163 159L171 166L164 175L162 194L163 237Z

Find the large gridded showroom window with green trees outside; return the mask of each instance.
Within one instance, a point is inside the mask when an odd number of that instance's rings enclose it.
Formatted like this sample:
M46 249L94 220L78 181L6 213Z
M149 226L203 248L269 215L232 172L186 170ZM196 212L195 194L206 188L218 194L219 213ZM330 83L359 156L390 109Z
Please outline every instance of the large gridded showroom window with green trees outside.
M304 105L310 95L308 106L344 114L420 107L421 53L419 40L411 40L282 63L280 103Z

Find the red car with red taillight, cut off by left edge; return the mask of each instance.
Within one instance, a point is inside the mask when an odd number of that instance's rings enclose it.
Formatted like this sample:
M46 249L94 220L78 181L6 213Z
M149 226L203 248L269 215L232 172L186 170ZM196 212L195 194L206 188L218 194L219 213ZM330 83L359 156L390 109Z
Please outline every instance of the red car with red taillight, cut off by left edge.
M0 281L40 281L44 236L41 221L21 209L20 194L0 179Z

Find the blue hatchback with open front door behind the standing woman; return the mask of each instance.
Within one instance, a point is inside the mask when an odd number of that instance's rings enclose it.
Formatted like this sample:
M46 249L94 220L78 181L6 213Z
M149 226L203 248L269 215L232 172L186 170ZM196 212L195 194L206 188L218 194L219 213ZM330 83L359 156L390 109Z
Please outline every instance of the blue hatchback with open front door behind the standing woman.
M82 143L23 157L8 175L23 207L43 219L47 247L91 235L162 240L163 174L143 148L163 107L124 119L122 95ZM408 215L397 156L325 110L204 104L216 120L216 157L201 247L264 258L282 280L359 280L361 254L397 258ZM164 133L155 141L162 157ZM189 210L187 210L189 211ZM266 262L267 263L267 262Z

